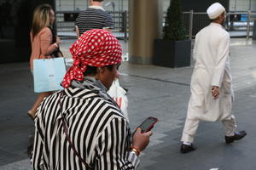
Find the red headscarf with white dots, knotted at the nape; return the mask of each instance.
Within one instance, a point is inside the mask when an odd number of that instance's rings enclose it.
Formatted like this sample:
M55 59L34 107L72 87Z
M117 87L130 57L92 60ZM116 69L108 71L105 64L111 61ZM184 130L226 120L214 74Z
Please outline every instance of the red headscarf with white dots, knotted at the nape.
M82 81L87 65L102 67L119 64L122 60L119 41L102 29L85 31L69 50L73 55L73 65L61 82L64 88L69 88L73 80Z

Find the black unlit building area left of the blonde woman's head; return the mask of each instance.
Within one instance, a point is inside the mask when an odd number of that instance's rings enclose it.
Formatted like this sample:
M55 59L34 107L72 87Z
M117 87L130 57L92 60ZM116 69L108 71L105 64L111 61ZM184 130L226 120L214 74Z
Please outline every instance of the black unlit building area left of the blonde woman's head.
M54 0L0 0L0 63L28 61L32 13L39 4Z

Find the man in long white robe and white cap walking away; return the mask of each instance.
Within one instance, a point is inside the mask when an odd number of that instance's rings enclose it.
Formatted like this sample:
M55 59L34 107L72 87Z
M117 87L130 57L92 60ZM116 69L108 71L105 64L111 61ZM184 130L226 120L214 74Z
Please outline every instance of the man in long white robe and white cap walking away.
M230 35L222 26L225 8L220 3L213 3L207 14L211 24L195 36L195 69L191 77L191 97L181 139L181 153L196 149L193 141L200 121L223 122L226 143L247 134L245 131L235 132L236 120L231 113L234 94L230 75Z

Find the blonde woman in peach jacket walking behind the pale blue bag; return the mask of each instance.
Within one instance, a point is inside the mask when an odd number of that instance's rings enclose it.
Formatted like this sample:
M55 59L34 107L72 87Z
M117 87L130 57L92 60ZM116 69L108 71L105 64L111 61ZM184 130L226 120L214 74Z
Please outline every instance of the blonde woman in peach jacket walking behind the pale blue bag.
M51 26L55 21L55 12L49 4L38 6L33 14L32 30L30 32L32 54L30 58L30 69L33 74L33 59L49 59L51 54L59 48L61 42L59 37L53 37ZM55 38L55 40L53 40ZM53 43L54 42L54 43ZM38 95L38 99L28 111L28 116L35 118L38 106L44 97L53 94L53 92L43 92Z

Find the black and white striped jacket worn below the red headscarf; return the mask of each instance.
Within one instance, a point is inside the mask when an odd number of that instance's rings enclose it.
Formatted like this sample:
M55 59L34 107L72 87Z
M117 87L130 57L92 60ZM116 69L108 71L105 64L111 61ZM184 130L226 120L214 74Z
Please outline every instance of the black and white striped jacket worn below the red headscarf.
M33 169L86 169L70 147L61 111L75 149L96 170L137 169L130 151L131 130L119 108L89 89L67 88L44 99L35 120Z

